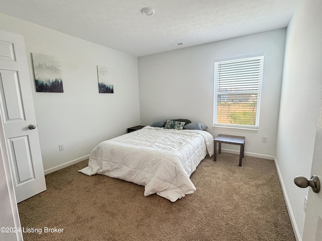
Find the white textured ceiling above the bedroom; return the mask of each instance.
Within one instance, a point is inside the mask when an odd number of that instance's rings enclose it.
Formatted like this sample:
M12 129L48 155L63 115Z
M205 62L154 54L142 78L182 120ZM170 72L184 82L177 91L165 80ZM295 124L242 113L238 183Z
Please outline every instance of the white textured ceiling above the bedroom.
M0 0L0 12L143 56L284 28L299 1ZM155 14L142 15L144 7Z

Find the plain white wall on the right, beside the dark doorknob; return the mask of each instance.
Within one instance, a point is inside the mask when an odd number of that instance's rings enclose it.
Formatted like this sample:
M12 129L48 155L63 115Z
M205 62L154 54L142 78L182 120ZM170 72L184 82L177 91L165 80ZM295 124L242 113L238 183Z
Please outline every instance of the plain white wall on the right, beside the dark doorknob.
M304 196L308 188L295 186L295 176L310 177L322 86L322 2L303 1L288 28L276 161L295 226L302 236Z

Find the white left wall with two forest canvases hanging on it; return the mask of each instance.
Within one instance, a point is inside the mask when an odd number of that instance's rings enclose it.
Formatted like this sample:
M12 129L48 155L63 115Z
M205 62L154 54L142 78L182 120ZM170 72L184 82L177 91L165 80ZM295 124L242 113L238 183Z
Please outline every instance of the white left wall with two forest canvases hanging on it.
M0 29L25 38L47 172L86 158L101 141L140 124L136 57L1 13ZM63 93L35 91L31 53L60 59ZM112 68L114 94L98 93L97 65ZM65 150L59 152L58 144Z

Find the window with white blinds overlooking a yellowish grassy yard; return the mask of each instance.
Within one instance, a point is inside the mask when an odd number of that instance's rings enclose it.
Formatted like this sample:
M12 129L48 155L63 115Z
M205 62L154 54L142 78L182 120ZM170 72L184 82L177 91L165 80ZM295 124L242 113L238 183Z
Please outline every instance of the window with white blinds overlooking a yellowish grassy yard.
M258 130L264 55L215 62L214 127Z

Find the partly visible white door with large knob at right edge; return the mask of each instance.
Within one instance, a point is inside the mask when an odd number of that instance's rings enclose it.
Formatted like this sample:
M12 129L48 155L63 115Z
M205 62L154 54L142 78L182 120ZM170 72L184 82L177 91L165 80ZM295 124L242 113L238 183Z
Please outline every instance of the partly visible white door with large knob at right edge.
M322 96L321 96L322 97ZM315 144L311 176L316 175L322 182L322 99L315 134ZM310 177L308 177L309 179ZM322 183L320 183L322 184ZM303 231L303 241L322 240L322 187L319 193L315 193L311 188L308 191L307 205L305 211L305 222Z

